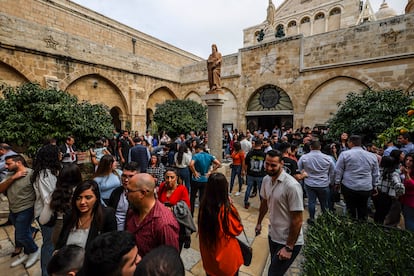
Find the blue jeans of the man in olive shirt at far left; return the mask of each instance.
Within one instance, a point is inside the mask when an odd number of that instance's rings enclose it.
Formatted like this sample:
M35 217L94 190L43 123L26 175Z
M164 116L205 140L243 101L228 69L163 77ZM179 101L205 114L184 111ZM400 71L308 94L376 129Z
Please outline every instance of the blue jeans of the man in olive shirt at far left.
M25 254L36 252L38 247L32 237L34 208L31 207L18 213L10 211L9 217L14 225L16 246L23 247Z

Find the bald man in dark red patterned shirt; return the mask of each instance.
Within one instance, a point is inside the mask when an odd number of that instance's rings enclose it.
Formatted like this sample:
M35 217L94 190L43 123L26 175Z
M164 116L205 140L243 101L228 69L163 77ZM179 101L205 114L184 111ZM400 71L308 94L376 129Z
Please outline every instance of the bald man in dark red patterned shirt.
M127 214L126 230L134 234L142 257L160 245L179 250L179 224L170 209L155 198L155 181L147 173L131 177L126 185L131 210Z

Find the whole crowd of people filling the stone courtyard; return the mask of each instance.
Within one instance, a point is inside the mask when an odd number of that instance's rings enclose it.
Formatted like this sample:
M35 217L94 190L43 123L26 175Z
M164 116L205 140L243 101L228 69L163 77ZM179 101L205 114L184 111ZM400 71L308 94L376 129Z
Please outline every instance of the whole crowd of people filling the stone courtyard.
M269 275L283 275L301 250L304 198L309 224L317 201L322 212L334 211L341 194L351 217L372 215L376 223L397 227L402 213L404 228L414 231L409 135L384 149L363 145L357 135L343 133L338 141L324 135L317 128L278 126L270 132L224 130L230 182L216 171L221 162L209 154L204 132L173 140L166 133L131 137L122 131L99 139L90 150L90 179L77 165L72 136L61 146L45 143L32 168L2 143L0 192L8 197L15 227L11 266L29 268L40 259L42 275L184 275L180 252L198 232L207 275L237 275L243 256L236 237L243 224L233 197L244 184L244 208L257 194L260 199L256 234L269 213ZM34 242L39 230L41 248ZM145 274L150 271L158 274Z

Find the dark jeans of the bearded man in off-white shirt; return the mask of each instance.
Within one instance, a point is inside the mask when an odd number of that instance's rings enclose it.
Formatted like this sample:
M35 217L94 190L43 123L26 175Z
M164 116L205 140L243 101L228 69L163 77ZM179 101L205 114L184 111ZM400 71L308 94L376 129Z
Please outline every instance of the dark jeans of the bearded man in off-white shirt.
M280 249L285 247L285 244L280 244L272 241L270 236L268 238L271 258L268 276L282 276L285 274L285 272L289 269L290 265L296 259L296 256L299 254L302 245L295 245L293 247L292 257L289 260L280 260L277 253Z

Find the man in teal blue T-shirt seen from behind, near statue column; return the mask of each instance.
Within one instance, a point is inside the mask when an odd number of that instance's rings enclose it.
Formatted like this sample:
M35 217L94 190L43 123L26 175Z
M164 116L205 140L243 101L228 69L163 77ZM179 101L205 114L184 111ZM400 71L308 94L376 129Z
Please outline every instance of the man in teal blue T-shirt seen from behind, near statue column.
M194 203L197 197L201 201L203 198L204 188L207 184L208 176L220 167L220 161L214 156L204 151L204 145L198 144L196 146L196 154L193 155L190 170L193 174L191 178L191 190L190 190L190 204L191 215L194 217ZM212 167L212 169L210 169Z

